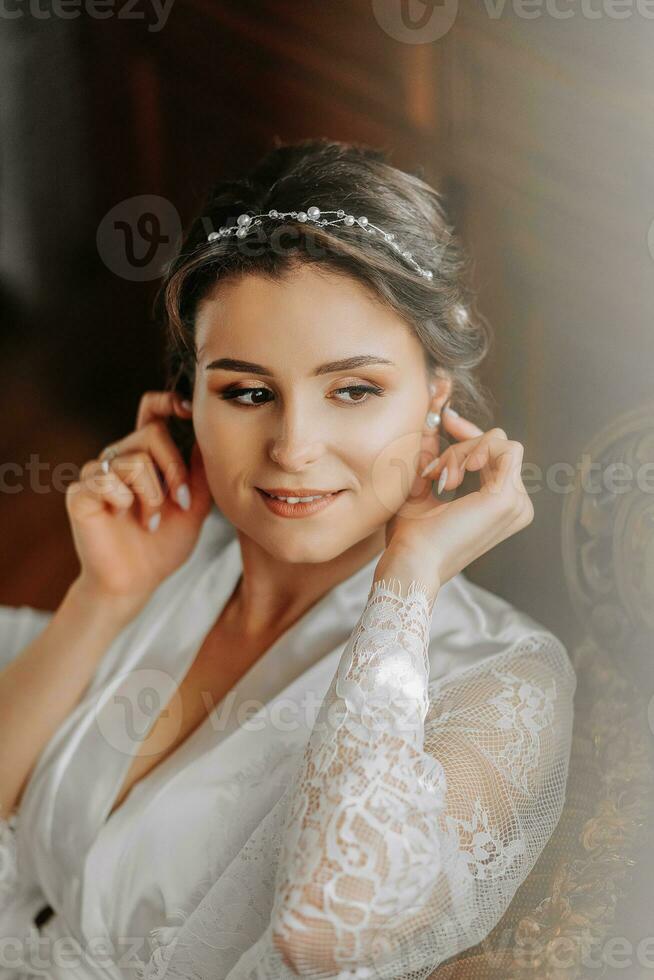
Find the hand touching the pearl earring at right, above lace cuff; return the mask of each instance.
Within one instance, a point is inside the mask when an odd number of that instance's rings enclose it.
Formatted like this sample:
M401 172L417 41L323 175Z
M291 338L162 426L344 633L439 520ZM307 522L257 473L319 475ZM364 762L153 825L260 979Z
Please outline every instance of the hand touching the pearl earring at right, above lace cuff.
M447 411L441 424L458 441L444 450L427 476L416 476L410 497L386 526L386 549L378 566L380 575L411 568L436 590L534 517L522 482L522 444L509 439L504 429L484 432ZM446 467L443 493L458 487L466 471L477 470L479 490L438 501L431 485L438 484Z

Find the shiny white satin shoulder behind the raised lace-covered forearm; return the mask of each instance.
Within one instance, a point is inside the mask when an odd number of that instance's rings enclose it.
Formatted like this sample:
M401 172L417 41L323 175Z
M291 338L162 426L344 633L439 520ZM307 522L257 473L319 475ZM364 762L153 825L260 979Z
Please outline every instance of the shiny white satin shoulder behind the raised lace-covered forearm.
M434 604L429 642L430 678L480 665L514 650L542 650L574 674L559 636L529 613L459 572Z

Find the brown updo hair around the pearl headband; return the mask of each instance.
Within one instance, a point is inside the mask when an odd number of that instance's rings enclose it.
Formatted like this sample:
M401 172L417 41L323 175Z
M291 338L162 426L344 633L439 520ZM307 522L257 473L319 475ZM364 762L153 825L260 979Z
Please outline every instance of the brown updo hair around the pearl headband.
M311 205L366 215L392 232L422 268L432 269L433 279L420 276L379 235L356 224L332 230L292 218L283 223L264 218L247 238L207 241L209 232L233 224L243 212L306 211ZM282 227L292 235L291 246L279 246ZM451 378L450 400L458 411L488 428L488 393L475 369L492 335L472 309L469 260L447 222L440 194L391 166L383 151L336 140L278 142L248 173L211 187L155 297L155 316L166 330L167 386L192 396L195 313L218 282L247 273L279 280L298 262L351 276L390 306L417 334L427 367Z

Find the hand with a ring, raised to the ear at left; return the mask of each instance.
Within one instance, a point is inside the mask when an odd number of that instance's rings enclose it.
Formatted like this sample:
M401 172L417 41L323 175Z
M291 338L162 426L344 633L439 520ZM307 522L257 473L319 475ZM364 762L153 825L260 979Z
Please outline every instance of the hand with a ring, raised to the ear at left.
M119 455L109 472L100 459L90 460L66 488L78 588L134 612L190 556L212 504L197 442L187 469L170 435L165 419L173 414L191 419L192 409L175 392L146 392L134 432L111 444ZM177 500L184 484L188 510L183 490Z

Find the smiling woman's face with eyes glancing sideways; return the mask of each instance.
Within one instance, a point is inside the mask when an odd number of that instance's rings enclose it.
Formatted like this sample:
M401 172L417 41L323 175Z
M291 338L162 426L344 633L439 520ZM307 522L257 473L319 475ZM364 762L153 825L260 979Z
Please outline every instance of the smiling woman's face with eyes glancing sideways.
M422 346L396 314L356 280L300 265L217 286L196 345L195 434L236 528L289 562L329 561L383 528L424 465L431 401ZM267 503L266 490L334 495Z

